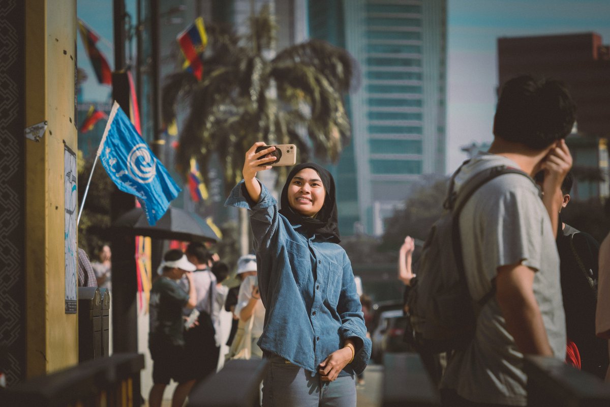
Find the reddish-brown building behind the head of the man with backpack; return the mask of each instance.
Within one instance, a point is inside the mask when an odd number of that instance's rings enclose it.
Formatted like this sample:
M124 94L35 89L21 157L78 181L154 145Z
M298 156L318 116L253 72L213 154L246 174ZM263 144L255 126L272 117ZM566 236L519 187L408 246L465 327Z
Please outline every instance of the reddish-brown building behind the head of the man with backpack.
M576 104L573 198L609 196L610 46L594 32L498 39L498 84L531 74L564 81Z

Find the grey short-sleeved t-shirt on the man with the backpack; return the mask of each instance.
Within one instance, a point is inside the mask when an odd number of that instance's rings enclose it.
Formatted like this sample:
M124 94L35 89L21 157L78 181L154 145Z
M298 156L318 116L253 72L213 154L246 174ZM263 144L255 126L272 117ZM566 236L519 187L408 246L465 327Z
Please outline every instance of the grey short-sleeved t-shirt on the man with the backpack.
M485 168L507 165L505 157L481 154L462 168L456 188ZM460 216L462 253L470 294L483 298L498 267L522 262L533 270L538 302L554 355L565 358L565 317L559 283L559 256L540 191L522 175L501 175L483 185L465 204ZM475 339L456 353L441 387L456 389L477 403L526 405L523 354L506 330L495 297L479 314Z

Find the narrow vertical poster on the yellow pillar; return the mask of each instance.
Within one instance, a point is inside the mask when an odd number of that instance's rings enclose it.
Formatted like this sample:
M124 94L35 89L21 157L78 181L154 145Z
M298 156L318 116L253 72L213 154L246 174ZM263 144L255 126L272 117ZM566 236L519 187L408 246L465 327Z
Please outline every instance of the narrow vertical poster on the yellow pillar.
M76 314L78 248L76 246L76 154L68 146L63 151L64 257L66 264L66 314Z

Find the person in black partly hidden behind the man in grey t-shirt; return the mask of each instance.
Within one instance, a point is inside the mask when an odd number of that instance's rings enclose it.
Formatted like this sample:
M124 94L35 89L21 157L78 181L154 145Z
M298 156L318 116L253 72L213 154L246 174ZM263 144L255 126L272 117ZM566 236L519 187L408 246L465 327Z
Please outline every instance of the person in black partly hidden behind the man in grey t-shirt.
M541 184L542 181L544 174L538 173L536 182ZM561 208L570 202L572 184L573 176L570 172L561 185ZM558 215L557 250L561 264L561 290L569 348L570 342L578 348L581 370L603 379L608 368L608 348L605 340L595 336L600 245L590 234L562 222L561 209ZM578 367L578 361L574 358L572 356L569 362Z

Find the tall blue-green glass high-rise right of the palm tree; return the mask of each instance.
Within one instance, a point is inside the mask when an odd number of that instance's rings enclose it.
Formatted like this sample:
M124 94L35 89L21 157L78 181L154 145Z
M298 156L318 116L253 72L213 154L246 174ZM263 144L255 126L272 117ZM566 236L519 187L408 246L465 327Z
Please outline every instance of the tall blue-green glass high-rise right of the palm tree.
M334 168L343 234L380 235L423 174L445 173L446 0L310 0L309 37L359 64ZM359 226L358 226L359 225Z

